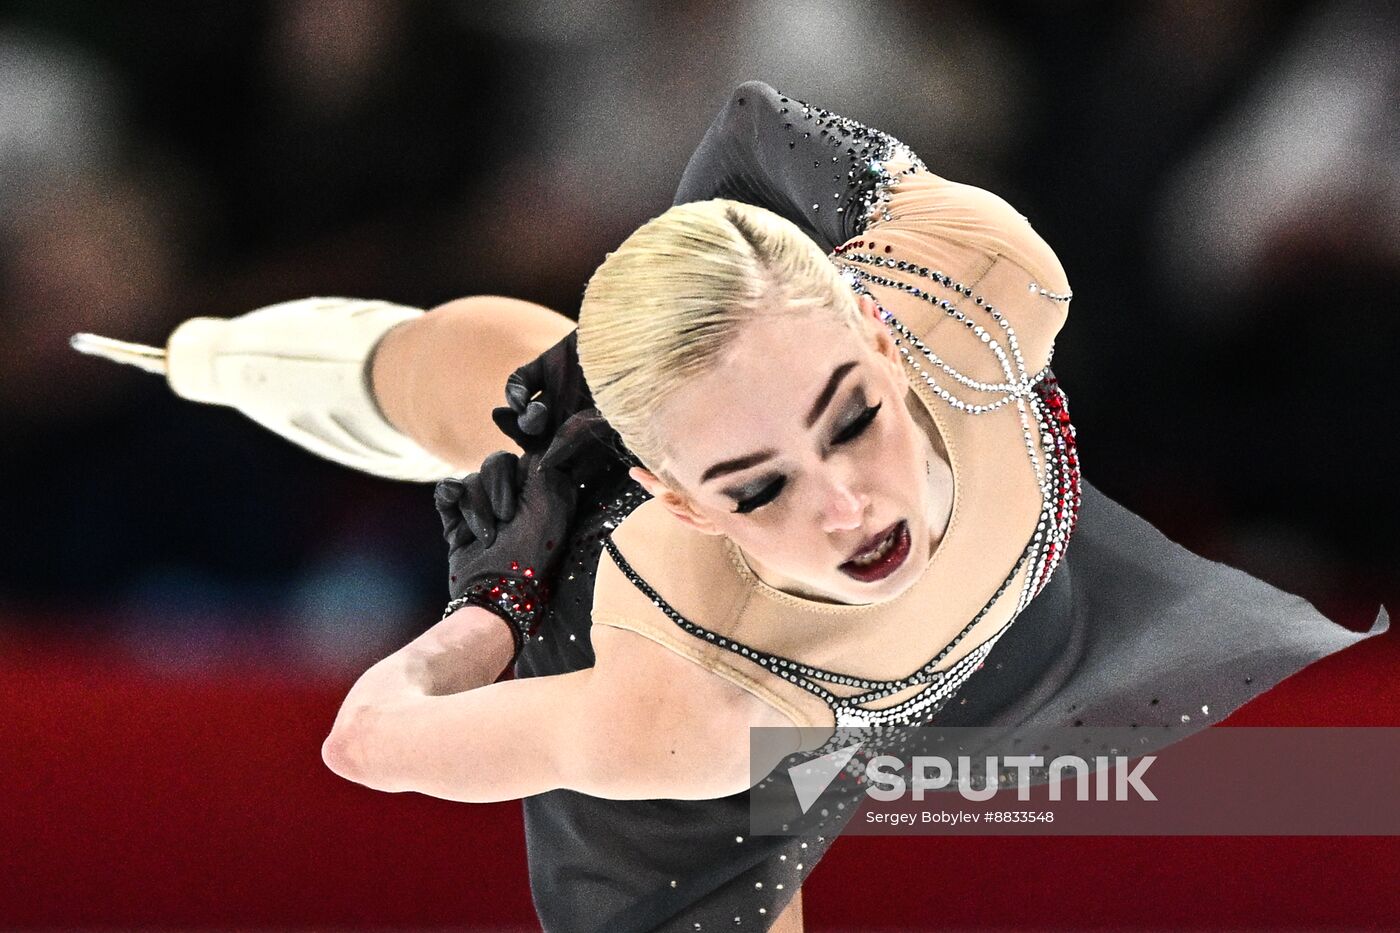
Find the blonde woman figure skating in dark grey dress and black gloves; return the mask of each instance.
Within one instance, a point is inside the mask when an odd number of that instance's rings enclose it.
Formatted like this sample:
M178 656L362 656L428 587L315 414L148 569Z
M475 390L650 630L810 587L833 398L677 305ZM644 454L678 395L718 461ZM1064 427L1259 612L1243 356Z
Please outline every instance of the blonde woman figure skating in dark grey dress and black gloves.
M333 770L524 799L546 929L801 929L855 808L750 838L748 727L795 727L788 751L924 723L1182 738L1386 630L1084 481L1049 368L1068 301L1004 200L748 83L577 332L497 298L298 303L188 322L167 366L361 469L477 471L437 488L448 612L350 691ZM524 457L487 455L501 382Z

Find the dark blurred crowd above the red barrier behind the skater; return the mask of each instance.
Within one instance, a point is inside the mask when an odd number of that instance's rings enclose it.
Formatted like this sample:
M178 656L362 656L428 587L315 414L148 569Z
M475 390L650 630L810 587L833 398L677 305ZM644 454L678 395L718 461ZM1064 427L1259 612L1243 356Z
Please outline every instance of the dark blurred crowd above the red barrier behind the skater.
M1400 593L1400 8L0 4L0 625L358 663L431 623L431 488L81 357L312 294L577 310L759 78L991 189L1074 286L1086 472L1352 622Z

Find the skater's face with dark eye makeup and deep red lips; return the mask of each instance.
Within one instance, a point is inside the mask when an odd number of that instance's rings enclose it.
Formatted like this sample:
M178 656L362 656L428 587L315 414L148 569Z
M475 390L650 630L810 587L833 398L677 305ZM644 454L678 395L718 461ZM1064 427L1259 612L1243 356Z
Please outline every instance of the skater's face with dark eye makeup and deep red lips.
M731 538L764 583L850 604L918 579L945 475L899 350L860 303L860 335L823 315L745 324L657 412L672 485L633 471L679 521Z

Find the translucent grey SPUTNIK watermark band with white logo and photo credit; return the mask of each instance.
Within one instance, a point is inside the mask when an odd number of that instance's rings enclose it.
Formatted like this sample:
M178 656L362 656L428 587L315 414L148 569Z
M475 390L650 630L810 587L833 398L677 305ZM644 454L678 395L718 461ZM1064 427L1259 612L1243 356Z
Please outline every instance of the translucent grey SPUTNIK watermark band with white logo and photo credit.
M1400 728L752 735L752 835L1400 835Z

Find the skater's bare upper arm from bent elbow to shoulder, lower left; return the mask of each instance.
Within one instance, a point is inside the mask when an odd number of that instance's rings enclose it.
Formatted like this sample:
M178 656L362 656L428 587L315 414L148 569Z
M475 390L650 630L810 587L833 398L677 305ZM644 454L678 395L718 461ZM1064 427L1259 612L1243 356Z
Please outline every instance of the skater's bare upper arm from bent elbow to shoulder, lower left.
M347 776L468 803L556 789L708 799L750 786L749 727L791 723L648 639L594 632L592 668L361 710Z

